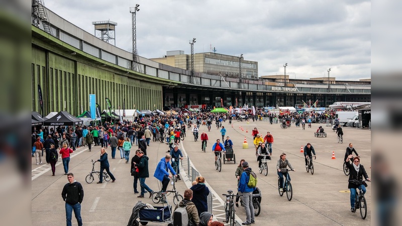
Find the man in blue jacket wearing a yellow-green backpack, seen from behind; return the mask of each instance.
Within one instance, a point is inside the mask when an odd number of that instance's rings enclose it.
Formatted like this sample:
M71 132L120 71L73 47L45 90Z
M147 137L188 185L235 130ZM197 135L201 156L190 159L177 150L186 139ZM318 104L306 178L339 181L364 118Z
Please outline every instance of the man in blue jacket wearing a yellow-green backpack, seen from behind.
M246 210L246 221L243 225L250 225L254 223L254 206L253 206L253 191L255 187L249 187L247 185L250 179L251 168L248 167L247 162L243 162L243 173L240 176L239 189L238 191L243 195L244 209Z

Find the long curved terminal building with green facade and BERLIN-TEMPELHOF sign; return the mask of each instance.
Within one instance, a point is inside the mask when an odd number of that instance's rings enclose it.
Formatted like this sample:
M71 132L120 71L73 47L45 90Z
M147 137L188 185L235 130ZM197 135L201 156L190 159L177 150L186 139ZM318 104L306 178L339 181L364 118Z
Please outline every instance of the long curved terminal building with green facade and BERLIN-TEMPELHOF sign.
M34 12L38 6L32 7ZM44 115L66 110L78 116L89 109L89 94L96 94L101 108L108 97L116 109L124 103L126 109L140 110L191 104L294 106L318 100L319 107L336 101L371 101L370 79L330 78L328 84L328 78L259 76L258 62L240 62L239 56L194 54L193 74L188 66L191 57L181 52L159 60L139 57L136 71L131 52L43 9L45 25L32 14L32 111L40 109L40 85Z

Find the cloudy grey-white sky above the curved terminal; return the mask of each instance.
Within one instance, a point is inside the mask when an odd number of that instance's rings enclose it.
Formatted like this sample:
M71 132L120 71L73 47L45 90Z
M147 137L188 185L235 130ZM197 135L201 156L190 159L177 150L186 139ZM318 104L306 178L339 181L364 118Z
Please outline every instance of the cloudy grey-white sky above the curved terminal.
M291 78L371 77L371 3L365 0L44 0L45 6L94 34L93 21L111 20L116 46L132 49L130 7L139 4L137 49L142 57L166 51L212 52L258 62L258 74Z

